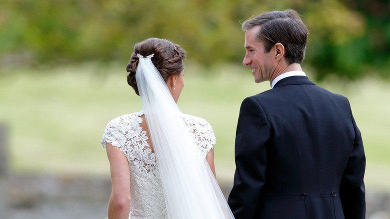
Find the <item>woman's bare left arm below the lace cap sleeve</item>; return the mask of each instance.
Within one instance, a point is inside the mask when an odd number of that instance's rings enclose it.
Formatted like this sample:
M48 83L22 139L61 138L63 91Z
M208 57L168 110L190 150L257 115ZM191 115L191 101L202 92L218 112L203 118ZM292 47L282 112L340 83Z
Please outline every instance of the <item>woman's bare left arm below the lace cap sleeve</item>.
M127 158L116 146L106 143L112 191L108 202L108 219L128 219L130 212L130 170Z

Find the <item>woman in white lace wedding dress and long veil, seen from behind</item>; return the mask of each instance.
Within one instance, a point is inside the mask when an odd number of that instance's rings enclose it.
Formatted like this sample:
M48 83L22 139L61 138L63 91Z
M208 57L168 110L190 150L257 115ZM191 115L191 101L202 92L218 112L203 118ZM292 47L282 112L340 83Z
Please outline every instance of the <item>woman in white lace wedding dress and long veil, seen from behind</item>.
M108 219L233 218L215 180L210 124L176 105L184 58L166 39L134 45L127 83L142 110L112 119L101 139L112 181Z

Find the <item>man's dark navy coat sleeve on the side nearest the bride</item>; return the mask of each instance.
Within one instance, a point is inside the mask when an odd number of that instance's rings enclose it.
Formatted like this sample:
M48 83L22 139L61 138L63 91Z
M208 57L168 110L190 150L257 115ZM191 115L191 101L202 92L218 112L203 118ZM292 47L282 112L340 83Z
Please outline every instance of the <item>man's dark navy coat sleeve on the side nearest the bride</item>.
M269 139L266 115L253 97L242 101L235 136L235 173L228 204L236 219L253 218L265 181Z

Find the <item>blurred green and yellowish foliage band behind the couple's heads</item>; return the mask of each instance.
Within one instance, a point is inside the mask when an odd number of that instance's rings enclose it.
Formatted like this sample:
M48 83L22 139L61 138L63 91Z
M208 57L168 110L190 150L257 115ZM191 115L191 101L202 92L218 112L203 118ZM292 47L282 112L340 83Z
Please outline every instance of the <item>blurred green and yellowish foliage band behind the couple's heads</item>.
M205 65L240 63L240 22L285 8L308 26L304 64L317 78L389 73L388 0L1 0L1 63L126 61L147 37L182 44Z

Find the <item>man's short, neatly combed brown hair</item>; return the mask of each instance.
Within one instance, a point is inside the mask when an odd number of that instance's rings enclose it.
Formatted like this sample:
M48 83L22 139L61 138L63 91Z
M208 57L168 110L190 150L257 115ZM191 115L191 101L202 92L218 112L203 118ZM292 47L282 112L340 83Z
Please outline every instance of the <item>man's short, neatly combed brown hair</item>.
M269 52L277 42L283 44L288 64L301 63L304 58L308 30L299 14L291 9L264 12L242 23L247 30L260 25L256 38L264 43L264 52Z

